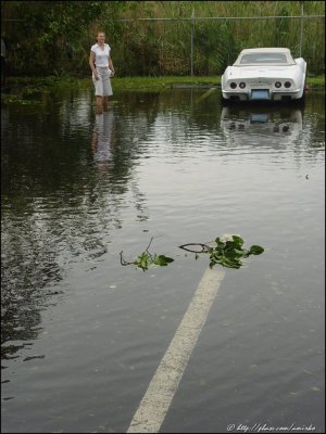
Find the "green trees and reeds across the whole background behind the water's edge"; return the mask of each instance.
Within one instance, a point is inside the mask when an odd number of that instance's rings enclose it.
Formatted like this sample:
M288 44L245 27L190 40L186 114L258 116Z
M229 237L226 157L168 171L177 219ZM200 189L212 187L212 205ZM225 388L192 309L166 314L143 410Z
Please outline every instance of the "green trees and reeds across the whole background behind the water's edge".
M103 29L120 77L180 77L190 75L192 29L193 74L218 76L243 48L283 46L299 56L301 20L191 21L192 14L298 16L301 4L305 15L325 15L323 1L1 1L1 36L11 76L88 75L89 49ZM321 75L324 17L304 18L302 30L302 56Z

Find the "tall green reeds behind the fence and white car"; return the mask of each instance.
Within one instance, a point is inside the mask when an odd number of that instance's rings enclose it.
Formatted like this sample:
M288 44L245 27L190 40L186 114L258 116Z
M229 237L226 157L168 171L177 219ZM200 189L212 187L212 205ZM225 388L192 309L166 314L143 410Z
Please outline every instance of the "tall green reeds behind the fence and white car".
M127 2L128 3L128 2ZM134 3L134 2L133 2ZM305 14L325 14L322 1L303 2ZM170 17L175 21L142 21L125 24L117 52L123 74L185 75L190 73L191 21L196 17L260 17L269 20L218 20L193 22L193 71L198 75L221 74L238 52L251 47L287 47L300 52L310 72L324 72L324 18L301 18L299 1L140 1L126 8L125 17ZM121 44L120 44L121 46Z

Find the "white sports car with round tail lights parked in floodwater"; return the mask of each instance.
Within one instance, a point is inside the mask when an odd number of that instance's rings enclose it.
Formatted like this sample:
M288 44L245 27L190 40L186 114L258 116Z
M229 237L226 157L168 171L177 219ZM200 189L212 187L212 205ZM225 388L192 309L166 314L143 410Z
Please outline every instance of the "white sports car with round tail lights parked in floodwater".
M222 76L224 100L291 101L304 97L306 62L287 48L242 50Z

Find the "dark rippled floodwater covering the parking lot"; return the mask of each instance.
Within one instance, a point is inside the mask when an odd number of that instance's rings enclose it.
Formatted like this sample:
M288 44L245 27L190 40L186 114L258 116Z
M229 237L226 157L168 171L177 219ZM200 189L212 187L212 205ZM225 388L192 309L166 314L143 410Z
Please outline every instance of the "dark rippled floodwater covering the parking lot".
M205 91L1 108L2 432L126 432L209 264L178 246L224 233L265 252L226 270L161 432L325 431L324 93ZM152 237L174 263L121 265Z

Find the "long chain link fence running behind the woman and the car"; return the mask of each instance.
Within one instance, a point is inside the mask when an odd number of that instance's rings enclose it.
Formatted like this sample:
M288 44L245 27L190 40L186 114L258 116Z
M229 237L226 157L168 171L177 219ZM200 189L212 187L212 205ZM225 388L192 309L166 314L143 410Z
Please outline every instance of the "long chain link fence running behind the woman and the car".
M89 49L96 28L103 28L118 76L214 76L223 74L244 48L286 47L303 56L309 75L325 72L325 15L210 16L109 20L93 23L88 34L74 41L58 37L51 59L32 43L16 41L24 20L2 20L11 35L8 56L14 74L89 74ZM35 38L35 35L34 35ZM32 50L32 51L30 51ZM33 51L34 50L34 51ZM48 50L49 51L49 50ZM33 54L33 55L32 55ZM40 59L41 58L41 59ZM39 67L36 68L36 65Z

